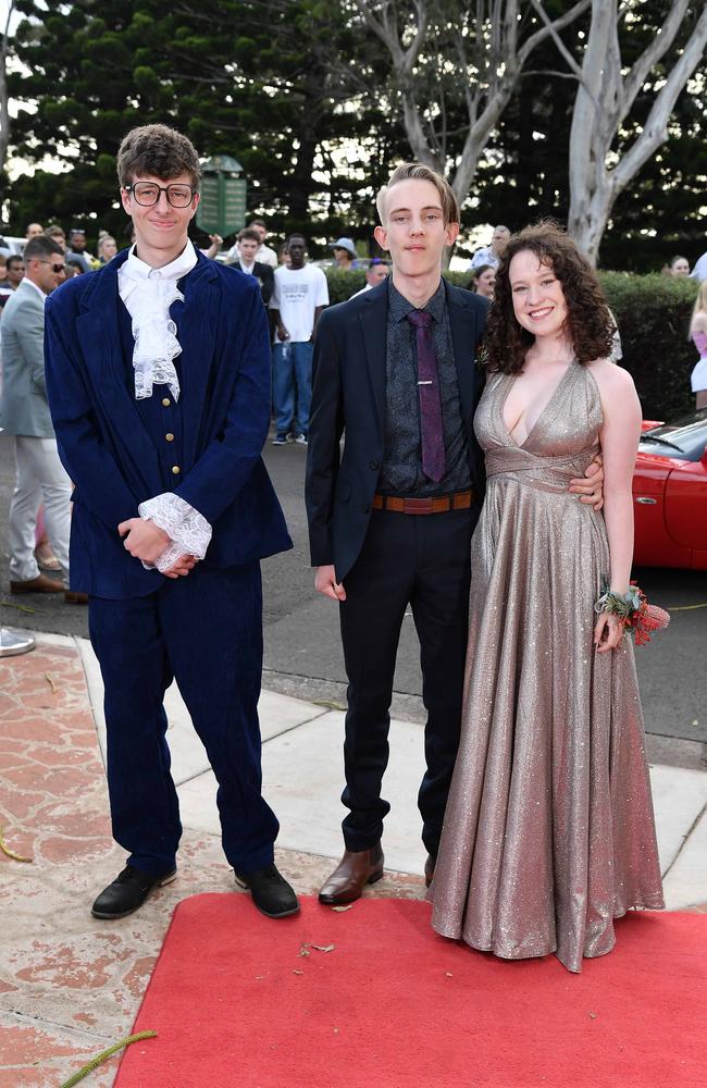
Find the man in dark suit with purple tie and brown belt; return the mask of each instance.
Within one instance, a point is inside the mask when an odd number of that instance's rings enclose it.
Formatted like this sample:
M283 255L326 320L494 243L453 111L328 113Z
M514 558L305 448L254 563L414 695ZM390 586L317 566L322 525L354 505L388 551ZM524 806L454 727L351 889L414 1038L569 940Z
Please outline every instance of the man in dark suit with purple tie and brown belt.
M419 793L432 879L459 743L469 546L484 487L472 429L488 302L442 279L459 232L447 182L399 166L377 200L393 273L322 314L307 463L315 586L339 602L348 676L344 856L320 891L349 903L383 876L381 798L402 618L420 639L426 771ZM345 432L344 452L340 438ZM590 481L575 482L592 495ZM592 500L591 498L588 499Z

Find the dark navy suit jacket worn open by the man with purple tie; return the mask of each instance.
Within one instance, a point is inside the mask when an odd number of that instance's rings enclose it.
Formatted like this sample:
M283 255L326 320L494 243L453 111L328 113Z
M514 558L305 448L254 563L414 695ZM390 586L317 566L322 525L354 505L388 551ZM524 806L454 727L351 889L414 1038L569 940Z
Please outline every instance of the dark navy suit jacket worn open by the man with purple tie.
M484 386L476 351L488 304L446 282L445 288L471 477L481 495L483 457L472 421ZM314 567L333 562L339 582L361 551L383 461L387 310L388 285L382 283L325 310L314 339L306 484L310 553Z

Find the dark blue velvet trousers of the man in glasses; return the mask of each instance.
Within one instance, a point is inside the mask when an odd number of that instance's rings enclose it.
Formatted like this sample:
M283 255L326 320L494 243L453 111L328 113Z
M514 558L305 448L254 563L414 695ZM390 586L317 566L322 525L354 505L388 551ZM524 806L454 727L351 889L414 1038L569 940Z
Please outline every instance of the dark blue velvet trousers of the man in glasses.
M90 597L88 614L106 690L113 838L129 864L153 875L176 864L182 824L163 707L175 679L219 782L230 864L269 865L278 824L260 792L260 564L198 564L148 596Z

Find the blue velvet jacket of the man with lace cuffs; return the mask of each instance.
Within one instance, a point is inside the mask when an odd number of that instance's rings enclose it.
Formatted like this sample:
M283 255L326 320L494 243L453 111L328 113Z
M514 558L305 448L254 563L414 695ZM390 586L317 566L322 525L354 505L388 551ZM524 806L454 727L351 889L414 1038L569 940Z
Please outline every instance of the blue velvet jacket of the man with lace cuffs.
M46 308L46 375L59 453L74 482L72 589L142 596L164 579L117 533L168 490L137 409L119 325L119 254L58 288ZM120 304L122 305L122 304ZM204 562L231 567L292 547L261 459L271 406L268 320L256 280L199 255L179 321L182 454L171 490L209 521ZM153 396L161 396L156 386Z

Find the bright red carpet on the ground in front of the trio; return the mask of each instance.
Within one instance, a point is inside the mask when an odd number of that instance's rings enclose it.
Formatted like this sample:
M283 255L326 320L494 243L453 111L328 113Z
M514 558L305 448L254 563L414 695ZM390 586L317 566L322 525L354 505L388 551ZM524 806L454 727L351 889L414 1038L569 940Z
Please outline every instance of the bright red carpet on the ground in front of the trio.
M437 937L430 907L177 907L115 1088L705 1088L707 915L640 914L570 975ZM314 945L331 951L320 951ZM300 955L305 948L309 955Z

